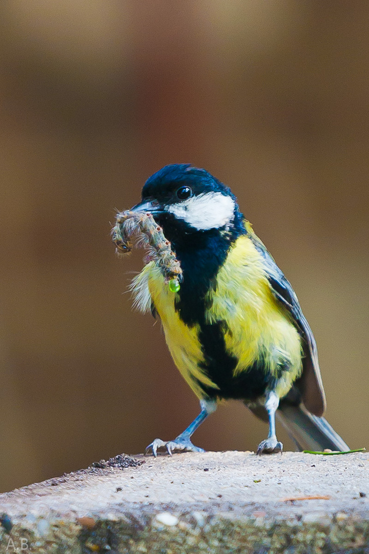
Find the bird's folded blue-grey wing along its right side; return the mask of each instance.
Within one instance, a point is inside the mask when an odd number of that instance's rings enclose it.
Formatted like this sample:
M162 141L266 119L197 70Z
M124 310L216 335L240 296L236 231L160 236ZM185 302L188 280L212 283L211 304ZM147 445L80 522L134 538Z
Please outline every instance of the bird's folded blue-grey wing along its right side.
M313 332L305 319L297 296L289 281L285 278L262 241L253 232L250 223L247 222L246 228L255 247L263 256L268 281L274 296L287 309L300 336L303 338L305 355L303 359L303 373L295 384L302 395L305 407L314 416L321 417L325 411L326 402Z

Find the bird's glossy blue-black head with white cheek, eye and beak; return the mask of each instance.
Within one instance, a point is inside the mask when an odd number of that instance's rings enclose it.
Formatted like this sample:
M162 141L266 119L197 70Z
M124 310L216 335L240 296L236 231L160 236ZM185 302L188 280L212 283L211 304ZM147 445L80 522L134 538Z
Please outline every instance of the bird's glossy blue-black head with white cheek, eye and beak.
M152 213L171 241L194 233L232 232L241 220L230 188L189 163L165 166L149 177L142 202L132 209Z

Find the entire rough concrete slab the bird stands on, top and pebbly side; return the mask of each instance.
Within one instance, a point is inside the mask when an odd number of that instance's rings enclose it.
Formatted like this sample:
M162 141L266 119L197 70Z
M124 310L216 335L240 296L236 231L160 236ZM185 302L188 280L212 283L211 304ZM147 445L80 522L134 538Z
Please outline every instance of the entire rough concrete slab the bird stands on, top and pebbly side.
M40 554L369 552L367 453L123 462L1 494L0 553L22 537Z

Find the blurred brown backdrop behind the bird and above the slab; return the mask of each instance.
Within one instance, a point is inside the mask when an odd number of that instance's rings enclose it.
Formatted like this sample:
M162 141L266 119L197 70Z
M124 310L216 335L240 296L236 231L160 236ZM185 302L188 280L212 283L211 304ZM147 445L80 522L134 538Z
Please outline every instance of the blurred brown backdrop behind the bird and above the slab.
M0 490L174 438L198 402L131 310L115 208L166 163L229 184L318 341L327 417L369 447L369 3L0 7ZM254 449L227 403L194 436ZM279 432L285 447L292 445Z

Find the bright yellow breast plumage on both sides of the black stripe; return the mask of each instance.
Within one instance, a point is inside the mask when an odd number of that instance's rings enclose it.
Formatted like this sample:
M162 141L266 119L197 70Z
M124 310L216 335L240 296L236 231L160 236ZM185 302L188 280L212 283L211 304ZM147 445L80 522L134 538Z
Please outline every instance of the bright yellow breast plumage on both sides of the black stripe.
M200 325L190 327L181 321L174 304L178 293L169 291L154 263L146 265L136 277L133 292L141 309L154 304L175 365L195 394L204 396L201 384L216 389L216 384L199 368L199 364L204 364ZM287 312L274 299L262 255L246 235L230 248L216 275L216 286L207 293L206 300L209 307L205 323L226 323L225 347L237 358L235 377L261 358L265 371L271 375L277 375L281 364L287 361L289 371L279 379L276 391L279 396L286 394L302 371L300 338Z

